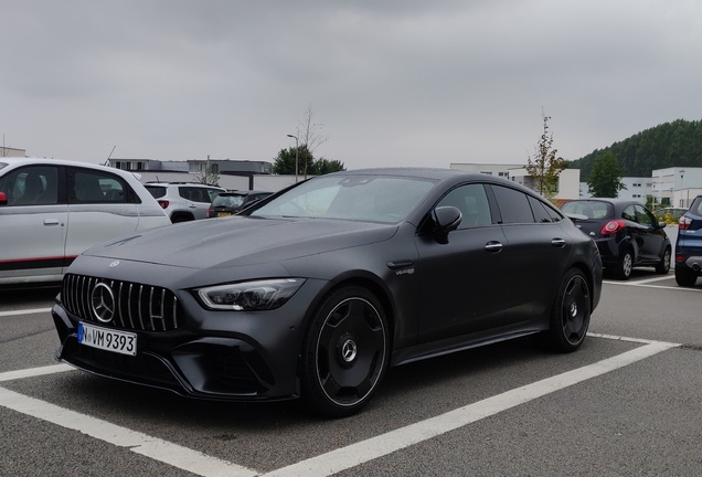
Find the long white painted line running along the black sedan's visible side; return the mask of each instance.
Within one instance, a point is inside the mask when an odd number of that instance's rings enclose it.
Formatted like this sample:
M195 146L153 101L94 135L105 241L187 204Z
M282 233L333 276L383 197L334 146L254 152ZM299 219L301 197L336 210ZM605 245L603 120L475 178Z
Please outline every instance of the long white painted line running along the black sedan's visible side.
M552 392L649 358L677 346L679 344L660 341L648 342L640 348L616 357L507 391L502 394L449 411L436 417L411 424L307 460L301 460L297 464L265 474L264 476L327 477L464 427Z

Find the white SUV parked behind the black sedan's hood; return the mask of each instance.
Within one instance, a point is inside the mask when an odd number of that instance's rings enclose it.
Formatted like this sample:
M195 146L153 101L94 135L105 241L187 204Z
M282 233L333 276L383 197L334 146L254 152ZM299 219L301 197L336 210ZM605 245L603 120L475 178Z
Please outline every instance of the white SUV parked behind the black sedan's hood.
M226 192L220 187L194 182L147 182L145 186L173 223L206 219L214 198Z

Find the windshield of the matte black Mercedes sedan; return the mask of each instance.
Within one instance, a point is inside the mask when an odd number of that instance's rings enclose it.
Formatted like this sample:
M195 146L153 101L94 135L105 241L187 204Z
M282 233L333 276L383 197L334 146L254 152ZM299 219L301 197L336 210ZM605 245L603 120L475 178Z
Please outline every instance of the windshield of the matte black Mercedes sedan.
M290 189L251 215L397 223L434 186L434 181L421 178L322 176Z

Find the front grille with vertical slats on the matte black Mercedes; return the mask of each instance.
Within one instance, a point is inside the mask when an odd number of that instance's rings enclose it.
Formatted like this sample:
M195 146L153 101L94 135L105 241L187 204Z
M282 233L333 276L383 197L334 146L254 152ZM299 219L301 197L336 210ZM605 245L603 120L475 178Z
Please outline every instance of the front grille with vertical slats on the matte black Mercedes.
M114 303L94 293L98 284L104 284L111 290ZM104 287L99 288L104 290ZM141 331L171 331L182 325L178 298L167 288L157 286L66 274L61 288L61 299L72 315L100 326ZM97 319L96 306L102 308L102 320ZM107 320L108 317L111 319Z

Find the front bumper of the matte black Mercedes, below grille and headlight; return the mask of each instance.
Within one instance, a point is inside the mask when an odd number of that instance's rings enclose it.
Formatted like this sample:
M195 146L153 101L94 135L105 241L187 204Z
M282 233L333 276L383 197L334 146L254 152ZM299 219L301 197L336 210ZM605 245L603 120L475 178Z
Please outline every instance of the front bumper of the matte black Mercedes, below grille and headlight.
M64 282L65 283L65 282ZM177 294L180 324L139 329L139 320L100 324L89 307L61 296L52 317L61 348L56 358L85 371L202 399L262 401L296 398L300 347L308 309L322 283L308 280L270 311L209 311L187 290ZM137 333L137 354L78 343L78 322Z

